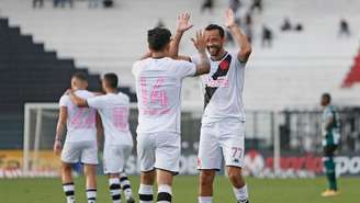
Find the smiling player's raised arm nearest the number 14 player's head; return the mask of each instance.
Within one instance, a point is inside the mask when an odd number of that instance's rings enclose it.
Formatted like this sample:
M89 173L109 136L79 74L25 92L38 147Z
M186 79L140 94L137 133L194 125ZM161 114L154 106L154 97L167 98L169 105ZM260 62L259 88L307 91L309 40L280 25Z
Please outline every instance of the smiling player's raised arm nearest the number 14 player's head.
M170 57L173 59L183 59L190 61L190 57L187 56L179 56L179 45L181 42L181 37L183 33L190 30L193 25L190 23L190 14L189 13L181 13L178 16L177 30L171 41L170 46Z

